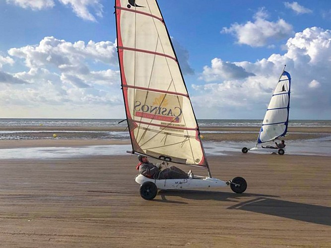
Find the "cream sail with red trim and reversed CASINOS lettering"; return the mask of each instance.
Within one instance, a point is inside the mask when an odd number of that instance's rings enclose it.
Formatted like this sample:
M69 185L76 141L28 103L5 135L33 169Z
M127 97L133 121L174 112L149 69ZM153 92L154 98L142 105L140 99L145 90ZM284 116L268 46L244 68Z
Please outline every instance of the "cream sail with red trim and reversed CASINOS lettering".
M132 152L206 166L199 127L156 0L115 0Z

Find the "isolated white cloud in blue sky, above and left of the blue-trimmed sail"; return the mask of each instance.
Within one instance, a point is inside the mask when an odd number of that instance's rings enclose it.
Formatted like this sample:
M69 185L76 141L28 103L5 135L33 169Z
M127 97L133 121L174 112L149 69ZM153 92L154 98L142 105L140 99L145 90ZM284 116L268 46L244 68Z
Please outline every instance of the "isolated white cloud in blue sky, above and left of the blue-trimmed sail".
M230 28L223 27L221 33L229 33L237 38L239 44L252 47L263 47L274 40L282 40L293 33L293 27L283 19L276 22L265 18L267 13L264 8L260 9L254 16L255 21L245 24L234 23Z

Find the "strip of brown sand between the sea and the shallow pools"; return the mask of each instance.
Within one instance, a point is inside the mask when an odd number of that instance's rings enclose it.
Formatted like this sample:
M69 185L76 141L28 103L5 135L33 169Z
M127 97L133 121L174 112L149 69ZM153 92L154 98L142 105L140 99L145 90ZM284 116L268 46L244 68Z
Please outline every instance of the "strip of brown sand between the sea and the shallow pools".
M97 133L127 131L123 127L1 126L0 131L26 131L24 136L31 138L29 140L0 140L0 148L71 146L72 142L77 146L130 144L129 133L127 135L128 141L111 140L111 136L104 138L102 136L105 134ZM205 141L255 141L259 131L260 127L200 127ZM53 133L57 134L57 138L52 138ZM22 134L17 133L17 135L21 136ZM285 141L303 140L330 135L331 127L289 127L288 135L283 139ZM43 142L43 140L47 142Z

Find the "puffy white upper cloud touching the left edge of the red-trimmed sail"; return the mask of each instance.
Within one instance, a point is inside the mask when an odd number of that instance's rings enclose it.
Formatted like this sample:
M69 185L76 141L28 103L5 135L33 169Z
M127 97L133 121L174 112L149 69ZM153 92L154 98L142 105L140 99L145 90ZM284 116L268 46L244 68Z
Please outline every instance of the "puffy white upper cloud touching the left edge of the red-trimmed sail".
M75 43L45 37L37 46L9 49L8 54L25 60L29 68L55 66L63 72L88 73L86 60L117 65L116 45L110 41Z

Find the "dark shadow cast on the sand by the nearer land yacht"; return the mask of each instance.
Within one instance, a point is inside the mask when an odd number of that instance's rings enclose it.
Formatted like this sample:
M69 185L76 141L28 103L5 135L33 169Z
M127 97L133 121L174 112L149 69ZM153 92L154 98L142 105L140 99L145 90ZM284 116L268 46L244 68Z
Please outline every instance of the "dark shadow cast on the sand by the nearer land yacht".
M189 203L180 201L168 201L166 196L179 196L182 198L193 200L230 201L236 203L240 198L251 197L253 199L238 203L236 205L228 207L228 209L245 210L255 213L284 217L292 220L300 220L315 224L331 226L331 207L273 199L279 197L275 195L251 193L235 194L200 190L160 190L158 195L161 196L162 200L154 199L155 201L180 204Z

